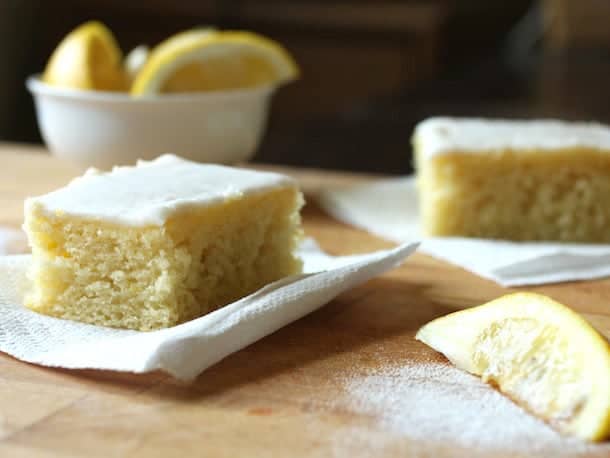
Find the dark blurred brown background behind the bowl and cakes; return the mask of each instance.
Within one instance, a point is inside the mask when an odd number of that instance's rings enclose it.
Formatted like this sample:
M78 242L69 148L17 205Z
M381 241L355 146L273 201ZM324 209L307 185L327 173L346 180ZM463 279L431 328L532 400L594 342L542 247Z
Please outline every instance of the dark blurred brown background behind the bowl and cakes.
M610 123L610 0L0 0L0 140L41 141L24 80L88 19L124 52L210 24L282 42L303 78L261 162L405 173L431 115Z

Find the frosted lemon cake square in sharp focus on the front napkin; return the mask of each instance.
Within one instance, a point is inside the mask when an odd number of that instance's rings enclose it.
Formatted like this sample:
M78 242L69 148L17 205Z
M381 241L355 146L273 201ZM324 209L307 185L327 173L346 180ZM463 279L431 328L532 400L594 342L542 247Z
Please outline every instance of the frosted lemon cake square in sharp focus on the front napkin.
M137 330L199 317L301 271L302 204L291 178L172 155L90 170L25 202L25 305Z

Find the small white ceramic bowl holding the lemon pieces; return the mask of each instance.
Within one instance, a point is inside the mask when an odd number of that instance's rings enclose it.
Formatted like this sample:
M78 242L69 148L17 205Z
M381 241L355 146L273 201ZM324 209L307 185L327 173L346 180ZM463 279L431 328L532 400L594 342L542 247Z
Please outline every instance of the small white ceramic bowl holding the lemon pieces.
M107 169L174 153L232 164L256 152L274 87L132 98L57 88L33 76L38 126L51 152Z

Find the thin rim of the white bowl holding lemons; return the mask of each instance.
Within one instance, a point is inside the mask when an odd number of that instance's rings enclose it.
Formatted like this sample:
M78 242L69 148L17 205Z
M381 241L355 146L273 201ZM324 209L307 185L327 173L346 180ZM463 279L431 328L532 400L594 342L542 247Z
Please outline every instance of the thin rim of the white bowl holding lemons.
M224 91L208 91L208 92L189 92L177 94L163 94L143 97L132 97L127 92L110 92L110 91L88 91L84 89L74 89L66 87L51 86L45 83L40 78L40 74L29 76L25 81L25 86L34 96L48 95L59 98L80 100L80 101L95 101L107 103L132 103L132 104L150 104L150 103L167 103L167 102L196 102L196 101L211 101L231 98L241 98L248 96L268 95L274 92L278 85L268 84L253 88L231 89Z

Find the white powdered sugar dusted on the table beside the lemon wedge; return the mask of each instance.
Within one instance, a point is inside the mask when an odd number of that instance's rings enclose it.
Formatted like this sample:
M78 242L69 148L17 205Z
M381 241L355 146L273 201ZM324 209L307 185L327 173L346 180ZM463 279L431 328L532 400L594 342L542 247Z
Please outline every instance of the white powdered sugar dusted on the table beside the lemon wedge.
M379 428L410 441L478 451L610 455L610 444L559 435L478 378L443 363L385 366L346 377L346 403ZM381 445L381 444L380 444Z

